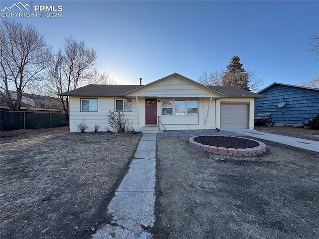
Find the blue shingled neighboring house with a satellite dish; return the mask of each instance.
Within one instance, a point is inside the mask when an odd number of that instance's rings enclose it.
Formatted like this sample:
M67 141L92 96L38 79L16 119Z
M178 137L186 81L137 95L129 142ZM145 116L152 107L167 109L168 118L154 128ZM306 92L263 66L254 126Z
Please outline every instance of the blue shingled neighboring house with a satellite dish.
M255 115L271 114L273 122L302 124L304 118L319 114L319 89L273 83L258 92L264 98L255 98Z

